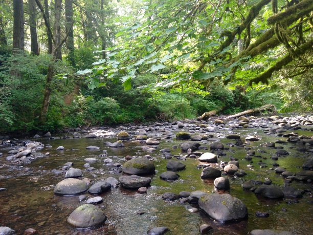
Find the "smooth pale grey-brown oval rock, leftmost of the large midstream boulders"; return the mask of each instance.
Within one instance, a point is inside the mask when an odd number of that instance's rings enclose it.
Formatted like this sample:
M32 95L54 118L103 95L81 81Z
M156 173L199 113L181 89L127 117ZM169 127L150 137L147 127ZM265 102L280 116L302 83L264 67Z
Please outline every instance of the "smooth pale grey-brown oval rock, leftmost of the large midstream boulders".
M87 191L88 186L79 179L65 179L57 183L54 187L54 193L58 195L77 195Z

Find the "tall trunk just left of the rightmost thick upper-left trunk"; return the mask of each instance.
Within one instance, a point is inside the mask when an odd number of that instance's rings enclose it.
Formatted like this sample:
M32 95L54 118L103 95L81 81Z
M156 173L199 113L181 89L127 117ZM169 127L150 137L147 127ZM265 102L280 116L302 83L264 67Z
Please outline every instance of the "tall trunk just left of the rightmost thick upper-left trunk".
M62 0L55 0L54 1L54 38L55 38L55 45L60 44L61 42L61 25L60 25L60 18L61 18L61 9L62 9ZM54 53L52 49L52 54ZM56 59L62 60L62 51L61 47L56 50Z

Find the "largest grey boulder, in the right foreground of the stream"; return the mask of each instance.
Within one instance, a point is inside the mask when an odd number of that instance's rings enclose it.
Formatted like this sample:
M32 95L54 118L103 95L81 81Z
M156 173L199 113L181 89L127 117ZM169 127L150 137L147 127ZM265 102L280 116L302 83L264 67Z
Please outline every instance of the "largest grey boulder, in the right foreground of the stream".
M220 223L240 221L248 216L244 203L229 194L205 195L199 199L198 204L211 218Z

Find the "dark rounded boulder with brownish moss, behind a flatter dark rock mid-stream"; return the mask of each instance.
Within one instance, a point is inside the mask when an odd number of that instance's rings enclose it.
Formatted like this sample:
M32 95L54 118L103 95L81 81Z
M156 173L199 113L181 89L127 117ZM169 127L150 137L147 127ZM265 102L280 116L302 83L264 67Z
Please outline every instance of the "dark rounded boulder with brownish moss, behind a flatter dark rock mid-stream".
M142 175L154 173L155 166L147 158L132 158L123 165L123 172L129 175Z

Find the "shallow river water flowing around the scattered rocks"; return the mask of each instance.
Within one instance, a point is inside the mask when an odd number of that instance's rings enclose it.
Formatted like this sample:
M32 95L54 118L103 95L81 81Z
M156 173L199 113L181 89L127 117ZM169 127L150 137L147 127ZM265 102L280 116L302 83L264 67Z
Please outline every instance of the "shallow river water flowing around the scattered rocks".
M240 169L245 170L247 176L241 178L231 177L230 194L233 197L241 199L248 207L248 220L239 223L220 224L210 219L201 210L191 213L184 204L179 201L168 202L162 200L162 194L166 191L180 193L180 191L203 190L213 192L213 180L203 180L200 178L202 169L196 166L199 164L197 159L187 158L184 161L186 169L178 172L180 179L167 182L160 179L160 174L166 171L166 162L160 149L170 148L172 154L182 154L181 149L172 149L173 145L179 145L183 141L176 139L161 139L157 151L147 153L142 150L142 143L136 140L124 141L125 147L111 148L105 142L116 141L116 138L96 138L86 139L36 139L45 145L51 144L52 148L42 149L42 153L50 152L45 158L36 159L29 165L20 166L9 164L5 159L5 153L12 147L0 149L4 153L0 157L0 187L7 188L0 192L0 226L13 228L17 234L23 234L25 229L34 228L40 234L146 234L147 230L156 226L167 226L171 231L168 234L199 234L199 226L209 224L213 227L210 234L249 234L253 229L280 229L291 231L295 234L311 234L312 231L312 198L309 193L305 193L303 198L268 200L256 196L250 191L244 191L242 184L249 179L258 179L264 181L270 178L274 185L281 186L284 179L281 175L271 169L274 162L285 167L290 172L299 172L302 170L302 164L308 156L296 150L295 144L276 144L283 146L289 152L286 157L279 157L274 161L270 157L275 155L277 149L262 147L261 143L275 142L277 139L286 140L283 137L266 136L261 129L239 129L235 133L241 137L247 137L257 132L262 139L251 142L249 145L256 155L263 158L253 157L253 163L244 159L247 150L243 147L230 146L228 150L223 151L226 156L219 157L218 161L229 161L231 157L237 158L240 163ZM299 135L310 136L312 132L299 131ZM160 133L159 133L160 134ZM223 136L226 131L215 133ZM152 136L158 136L158 133L152 133ZM221 138L221 142L235 142L226 138ZM202 142L202 146L208 146L207 141ZM56 151L59 145L64 146L64 151ZM99 150L87 150L88 145L99 146ZM291 147L291 148L290 148ZM293 148L294 147L294 148ZM99 157L103 150L107 150L107 157ZM260 152L265 151L265 153ZM202 152L209 150L200 149ZM112 188L106 193L100 195L103 203L98 206L104 211L108 220L101 227L93 229L75 229L66 223L66 218L79 205L78 196L62 197L53 193L54 186L65 178L65 174L54 174L52 169L59 169L65 162L72 161L74 167L83 170L83 176L80 178L90 178L92 180L105 179L107 177L119 178L122 173L113 171L112 165L106 165L103 162L105 158L111 158L114 163L123 164L126 155L151 155L155 164L155 175L152 175L151 186L148 187L147 194L138 194L137 191L126 190L122 187ZM91 164L97 170L87 172L83 168L84 158L94 157L98 162ZM260 168L256 164L258 161L266 163L265 168ZM252 164L253 167L248 166ZM103 170L99 170L99 169ZM293 181L292 186L299 189L310 190L312 185ZM89 198L93 197L85 193ZM195 206L195 205L194 205ZM256 217L256 211L268 211L268 218ZM142 213L142 215L140 215Z

